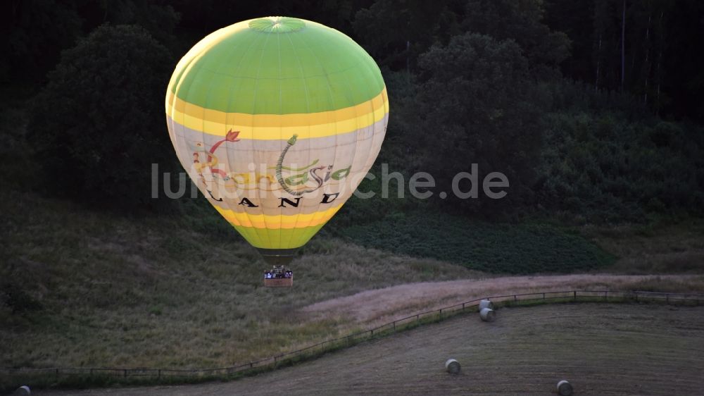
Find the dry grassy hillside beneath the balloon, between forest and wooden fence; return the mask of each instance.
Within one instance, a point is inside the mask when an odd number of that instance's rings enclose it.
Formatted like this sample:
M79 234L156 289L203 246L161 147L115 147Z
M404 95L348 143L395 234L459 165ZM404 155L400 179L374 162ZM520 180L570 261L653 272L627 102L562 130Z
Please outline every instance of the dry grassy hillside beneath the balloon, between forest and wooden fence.
M696 276L502 280L323 236L292 264L293 289L268 290L256 251L203 206L124 216L15 189L0 202L0 366L229 366L509 289L704 288Z

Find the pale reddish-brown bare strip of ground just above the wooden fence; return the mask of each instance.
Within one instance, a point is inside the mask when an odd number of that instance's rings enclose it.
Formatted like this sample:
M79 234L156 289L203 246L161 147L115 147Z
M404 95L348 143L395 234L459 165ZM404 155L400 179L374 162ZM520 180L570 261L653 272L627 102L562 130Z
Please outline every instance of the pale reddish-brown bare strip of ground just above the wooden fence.
M491 295L559 290L626 290L635 283L686 282L701 276L627 276L579 274L563 276L509 276L486 279L448 280L408 283L384 289L366 290L356 295L329 299L303 308L313 316L348 316L367 325L388 323L418 311L438 309L450 304Z

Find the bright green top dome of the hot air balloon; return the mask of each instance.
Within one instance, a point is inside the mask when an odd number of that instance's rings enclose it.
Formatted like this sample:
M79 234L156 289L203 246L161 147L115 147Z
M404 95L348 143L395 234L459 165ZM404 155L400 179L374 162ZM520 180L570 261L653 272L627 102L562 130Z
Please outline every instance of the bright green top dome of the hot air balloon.
M169 82L183 101L248 114L344 109L383 89L377 64L352 39L287 17L246 20L213 32L182 58Z

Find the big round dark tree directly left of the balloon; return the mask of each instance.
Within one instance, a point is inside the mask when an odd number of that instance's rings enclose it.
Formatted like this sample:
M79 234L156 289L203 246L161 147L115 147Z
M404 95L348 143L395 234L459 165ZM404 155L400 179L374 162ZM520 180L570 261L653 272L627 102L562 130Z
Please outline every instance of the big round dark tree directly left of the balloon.
M163 119L173 58L142 27L101 26L64 51L30 111L27 139L49 193L148 206L151 163L175 161Z

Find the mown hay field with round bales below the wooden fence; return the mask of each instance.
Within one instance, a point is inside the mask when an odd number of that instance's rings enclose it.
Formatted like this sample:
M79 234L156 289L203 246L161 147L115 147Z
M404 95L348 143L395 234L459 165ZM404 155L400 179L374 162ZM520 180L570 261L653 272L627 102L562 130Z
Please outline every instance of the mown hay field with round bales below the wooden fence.
M37 395L697 395L704 307L551 304L458 316L230 383ZM462 373L444 372L449 357Z

